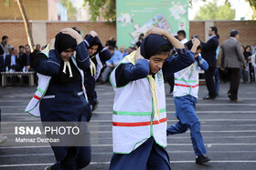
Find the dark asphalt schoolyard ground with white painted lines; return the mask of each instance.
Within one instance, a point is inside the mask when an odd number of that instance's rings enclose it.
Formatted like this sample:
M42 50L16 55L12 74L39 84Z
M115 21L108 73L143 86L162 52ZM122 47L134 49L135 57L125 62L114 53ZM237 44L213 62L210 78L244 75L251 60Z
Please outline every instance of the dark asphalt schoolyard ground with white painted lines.
M168 90L166 85L165 91ZM199 87L197 115L208 156L207 165L196 165L189 131L167 137L167 151L174 170L255 170L256 169L256 84L240 84L241 103L230 103L227 97L229 84L220 85L219 97L203 100L207 94L205 85ZM34 95L36 86L0 87L2 133L12 138L14 125L21 122L39 122L37 117L23 113ZM112 157L112 101L111 85L97 85L100 105L90 123L92 158L85 169L108 169ZM176 123L172 97L166 97L167 123ZM26 124L26 123L25 123ZM0 145L0 169L41 170L55 163L54 155L45 145L12 145L8 140Z

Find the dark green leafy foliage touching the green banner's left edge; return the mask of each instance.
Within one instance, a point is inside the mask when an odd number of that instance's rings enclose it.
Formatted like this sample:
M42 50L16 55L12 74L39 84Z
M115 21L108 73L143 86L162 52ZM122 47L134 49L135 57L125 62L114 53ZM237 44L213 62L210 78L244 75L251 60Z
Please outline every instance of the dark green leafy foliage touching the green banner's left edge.
M102 16L108 22L115 21L115 0L84 0L84 5L90 6L91 21L99 20Z

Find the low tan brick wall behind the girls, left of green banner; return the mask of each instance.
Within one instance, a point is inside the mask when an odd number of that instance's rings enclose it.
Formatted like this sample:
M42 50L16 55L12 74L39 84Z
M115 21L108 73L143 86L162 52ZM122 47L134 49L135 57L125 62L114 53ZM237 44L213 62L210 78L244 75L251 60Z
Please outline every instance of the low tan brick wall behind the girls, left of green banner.
M27 45L26 30L22 21L0 21L0 25L0 36L2 38L3 35L7 35L9 37L9 45L14 45L15 47ZM78 27L83 35L94 30L100 36L103 45L111 36L116 38L115 25L105 25L103 22L33 21L30 22L30 26L35 45L47 45L50 39L54 38L65 27Z

